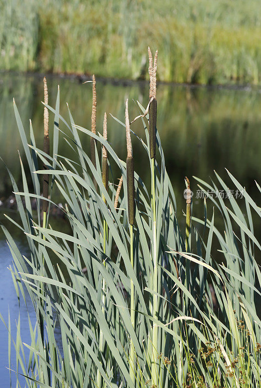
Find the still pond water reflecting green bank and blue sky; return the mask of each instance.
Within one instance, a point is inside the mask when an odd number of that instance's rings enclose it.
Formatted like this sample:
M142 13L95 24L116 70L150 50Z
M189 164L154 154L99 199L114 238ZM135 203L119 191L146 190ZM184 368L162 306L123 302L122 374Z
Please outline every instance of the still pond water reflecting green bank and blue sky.
M12 171L18 188L21 188L20 165L17 149L22 160L24 154L16 127L13 112L13 97L16 100L24 127L29 131L29 119L32 119L36 144L42 147L43 138L43 82L40 75L0 74L0 157ZM57 86L61 92L61 114L68 120L66 102L76 124L90 129L91 84L82 84L77 78L47 77L49 86L49 104L55 105ZM137 116L138 110L132 99L147 106L148 84L146 82L97 81L97 129L101 132L103 113L112 113L124 121L124 101L129 98L130 118ZM185 224L182 210L185 210L183 198L184 177L191 180L191 188L196 192L197 176L207 181L214 178L213 170L228 182L225 167L245 186L249 194L259 195L254 180L261 181L261 88L205 88L184 85L159 84L157 88L158 120L157 127L166 160L166 168L177 197L178 216L181 226ZM53 116L50 116L50 123ZM63 126L61 129L64 130ZM141 122L136 122L133 130L144 139ZM147 180L149 164L143 147L133 137L133 156L135 168L144 181ZM68 155L69 149L61 136L59 153ZM122 159L126 158L125 131L113 118L108 118L108 140ZM89 137L81 134L82 145L89 150ZM71 155L70 155L71 156ZM23 235L3 220L3 213L16 216L10 210L7 198L12 186L4 165L0 165L0 221L9 227L22 251L26 252ZM260 199L260 197L259 197ZM12 198L11 198L12 200ZM240 199L239 199L240 200ZM260 200L257 200L260 203ZM6 209L7 208L7 209ZM203 199L194 200L194 212L203 216ZM257 237L261 235L261 225L257 225ZM16 291L12 276L7 267L12 256L0 234L0 312L8 323L10 310L13 334L16 333L15 319L18 317ZM29 305L30 309L30 305ZM27 312L21 307L21 337L29 340ZM30 314L33 317L33 308ZM9 385L8 333L0 323L0 387ZM12 358L15 365L15 358Z

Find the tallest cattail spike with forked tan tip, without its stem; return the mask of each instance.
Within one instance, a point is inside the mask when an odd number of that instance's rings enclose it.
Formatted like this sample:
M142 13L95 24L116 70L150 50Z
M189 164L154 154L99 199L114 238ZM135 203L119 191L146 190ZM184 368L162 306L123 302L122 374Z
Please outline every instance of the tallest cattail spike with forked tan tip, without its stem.
M154 62L152 54L148 47L148 74L149 74L149 152L150 159L155 158L156 153L156 125L157 125L157 99L156 99L156 73L157 73L158 50L155 53Z

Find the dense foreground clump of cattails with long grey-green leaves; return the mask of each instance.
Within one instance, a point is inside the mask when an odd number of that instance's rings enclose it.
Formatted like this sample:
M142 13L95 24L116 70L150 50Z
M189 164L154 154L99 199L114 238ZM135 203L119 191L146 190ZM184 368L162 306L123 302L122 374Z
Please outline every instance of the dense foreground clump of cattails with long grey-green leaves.
M156 128L156 112L151 112L156 109L155 93L153 86L147 108L132 102L137 106L135 120L144 128L139 140L148 157L148 188L135 171L139 156L131 147L135 134L128 100L122 102L126 122L120 122L126 131L126 162L110 144L117 118L110 116L107 122L104 115L102 134L76 125L69 108L67 121L59 113L58 90L55 108L45 104L54 123L49 155L35 144L32 125L27 139L14 103L31 177L21 164L23 188L18 191L9 174L21 216L21 224L15 224L25 232L30 255L22 256L2 229L14 259L17 293L25 298L25 287L35 307L36 321L28 318L31 343L23 343L19 332L14 339L16 367L27 387L261 387L261 321L253 303L261 296L255 260L261 245L252 218L253 213L261 217L261 208L229 172L229 187L217 173L211 185L190 178L184 183L186 228L180 228L162 129ZM94 139L95 162L79 132ZM58 133L70 144L73 157L59 155ZM70 233L54 230L51 216L46 226L41 224L46 174L63 197ZM190 190L196 184L206 196L202 219L193 216ZM226 200L208 195L221 190L242 192L245 209L233 195ZM52 193L45 201L56 206ZM223 216L221 230L215 226L216 212ZM221 264L215 260L213 240L219 244Z

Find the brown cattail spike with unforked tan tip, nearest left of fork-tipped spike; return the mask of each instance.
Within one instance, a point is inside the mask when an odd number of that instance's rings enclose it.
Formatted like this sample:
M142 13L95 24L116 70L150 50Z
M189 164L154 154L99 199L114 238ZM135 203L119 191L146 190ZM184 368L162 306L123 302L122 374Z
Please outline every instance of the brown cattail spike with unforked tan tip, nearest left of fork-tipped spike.
M127 141L127 193L128 193L128 215L129 224L134 224L135 219L135 200L134 200L134 162L132 158L131 139L130 139L130 121L128 112L128 99L125 106L125 123L126 123L126 141Z

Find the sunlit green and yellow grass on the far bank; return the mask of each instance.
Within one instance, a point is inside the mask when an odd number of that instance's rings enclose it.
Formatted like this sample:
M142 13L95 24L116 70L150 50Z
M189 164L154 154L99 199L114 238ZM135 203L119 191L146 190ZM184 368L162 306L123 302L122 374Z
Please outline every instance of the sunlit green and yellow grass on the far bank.
M258 0L14 5L1 6L1 68L138 78L147 75L144 52L151 44L161 53L161 80L260 82Z

